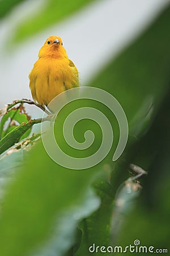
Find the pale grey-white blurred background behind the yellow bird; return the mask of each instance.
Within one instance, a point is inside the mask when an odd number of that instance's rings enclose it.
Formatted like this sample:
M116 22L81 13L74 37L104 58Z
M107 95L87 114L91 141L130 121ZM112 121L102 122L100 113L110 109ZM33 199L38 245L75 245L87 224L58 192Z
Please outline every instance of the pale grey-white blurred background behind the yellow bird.
M36 11L42 2L27 0L0 23L0 108L16 99L32 98L28 74L48 36L61 36L67 55L79 70L81 85L86 85L113 56L145 29L169 1L97 1L7 52L5 42L10 40L17 23ZM33 117L39 113L32 106L29 111Z

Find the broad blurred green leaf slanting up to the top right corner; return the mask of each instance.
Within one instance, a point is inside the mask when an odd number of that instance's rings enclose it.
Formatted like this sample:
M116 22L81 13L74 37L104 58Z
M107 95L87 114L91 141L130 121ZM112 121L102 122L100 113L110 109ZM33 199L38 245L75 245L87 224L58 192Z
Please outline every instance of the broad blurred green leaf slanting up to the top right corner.
M130 135L139 133L139 123L146 119L146 125L141 126L145 133L169 87L169 13L168 7L90 83L107 90L120 102Z

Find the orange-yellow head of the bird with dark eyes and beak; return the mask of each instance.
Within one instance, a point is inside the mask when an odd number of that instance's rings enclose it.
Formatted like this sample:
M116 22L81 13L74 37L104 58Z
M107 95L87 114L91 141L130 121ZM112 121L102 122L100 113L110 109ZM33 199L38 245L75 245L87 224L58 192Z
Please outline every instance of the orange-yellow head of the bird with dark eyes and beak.
M59 36L49 36L44 46L39 51L39 57L61 58L67 57L66 50L63 48L62 39Z

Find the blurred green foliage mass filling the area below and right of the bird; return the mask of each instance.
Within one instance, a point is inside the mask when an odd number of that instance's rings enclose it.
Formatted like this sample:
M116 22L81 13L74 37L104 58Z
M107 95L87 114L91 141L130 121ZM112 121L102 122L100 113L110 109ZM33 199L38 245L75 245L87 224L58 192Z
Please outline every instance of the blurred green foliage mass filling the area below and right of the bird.
M22 106L12 104L1 111L0 177L14 177L1 199L1 255L82 256L91 254L88 247L93 243L125 247L135 239L145 246L167 248L169 17L168 7L90 84L113 94L128 117L128 146L116 163L112 163L114 145L96 167L73 171L58 166L46 154L39 134L27 138L37 120L30 120ZM99 107L96 102L92 106ZM116 143L116 120L100 107L114 126ZM64 117L60 115L59 124ZM62 144L61 130L55 129ZM101 133L95 123L79 124L76 138L80 140L87 129L96 130L95 147L99 146ZM130 163L148 171L145 179L134 176Z

